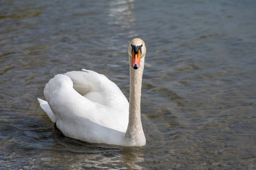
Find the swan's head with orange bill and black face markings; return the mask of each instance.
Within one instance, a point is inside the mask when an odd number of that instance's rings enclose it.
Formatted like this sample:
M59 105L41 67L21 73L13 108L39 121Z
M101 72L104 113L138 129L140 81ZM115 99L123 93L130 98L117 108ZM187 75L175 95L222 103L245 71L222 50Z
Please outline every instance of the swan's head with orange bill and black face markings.
M138 69L141 66L141 60L146 56L146 46L142 39L133 39L130 41L129 48L130 66Z

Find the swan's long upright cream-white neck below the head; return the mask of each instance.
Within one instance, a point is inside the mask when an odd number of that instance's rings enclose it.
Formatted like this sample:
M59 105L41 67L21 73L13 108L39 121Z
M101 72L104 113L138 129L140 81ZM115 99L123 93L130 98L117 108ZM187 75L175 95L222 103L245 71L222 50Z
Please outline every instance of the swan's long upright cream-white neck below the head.
M131 57L129 57L129 60L130 59ZM141 58L141 66L138 69L133 69L133 67L130 66L129 124L125 133L125 140L133 146L143 146L146 143L141 123L141 86L143 69L144 57Z

